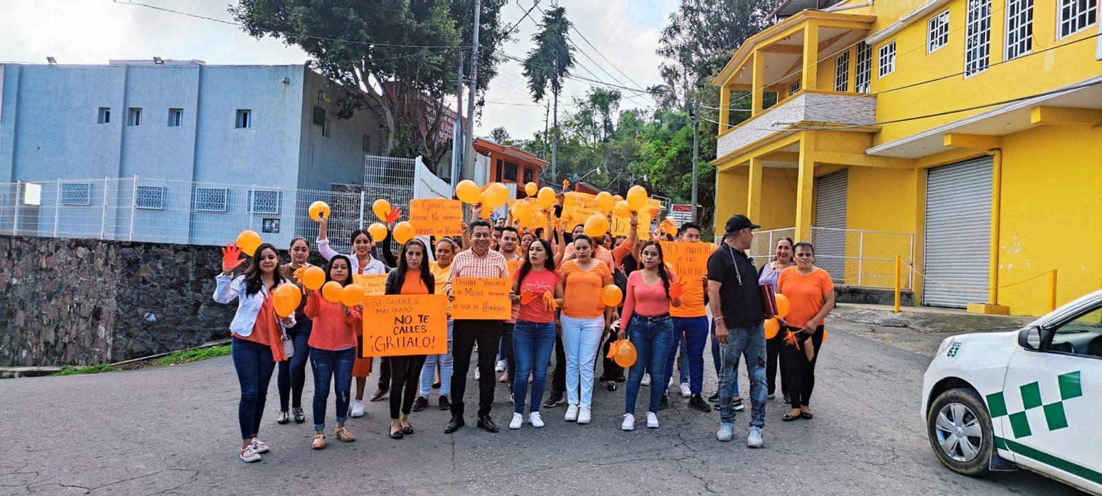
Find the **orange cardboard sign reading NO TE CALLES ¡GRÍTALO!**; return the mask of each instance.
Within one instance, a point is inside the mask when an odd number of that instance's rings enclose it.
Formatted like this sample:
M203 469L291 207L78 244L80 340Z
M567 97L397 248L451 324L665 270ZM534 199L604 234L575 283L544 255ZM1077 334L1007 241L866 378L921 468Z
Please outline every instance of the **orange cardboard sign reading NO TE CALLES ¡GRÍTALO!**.
M364 296L361 358L447 353L447 296Z

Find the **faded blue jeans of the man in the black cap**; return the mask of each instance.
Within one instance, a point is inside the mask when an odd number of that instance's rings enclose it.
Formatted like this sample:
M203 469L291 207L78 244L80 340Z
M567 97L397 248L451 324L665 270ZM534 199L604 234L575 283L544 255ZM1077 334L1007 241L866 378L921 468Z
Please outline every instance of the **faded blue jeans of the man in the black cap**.
M720 376L720 422L734 422L734 385L738 377L739 355L746 357L746 371L750 377L750 427L765 427L765 327L734 327L727 330L727 344L723 345L723 374Z

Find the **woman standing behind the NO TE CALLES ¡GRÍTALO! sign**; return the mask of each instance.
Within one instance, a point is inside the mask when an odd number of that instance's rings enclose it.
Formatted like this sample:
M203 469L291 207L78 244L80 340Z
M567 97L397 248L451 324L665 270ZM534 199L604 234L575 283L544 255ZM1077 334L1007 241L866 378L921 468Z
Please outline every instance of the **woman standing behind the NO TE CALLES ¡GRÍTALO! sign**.
M425 267L429 249L413 238L402 245L398 267L387 276L387 294L433 294L436 281ZM390 357L390 438L402 439L413 433L410 410L418 392L425 355ZM399 417L399 413L401 414Z

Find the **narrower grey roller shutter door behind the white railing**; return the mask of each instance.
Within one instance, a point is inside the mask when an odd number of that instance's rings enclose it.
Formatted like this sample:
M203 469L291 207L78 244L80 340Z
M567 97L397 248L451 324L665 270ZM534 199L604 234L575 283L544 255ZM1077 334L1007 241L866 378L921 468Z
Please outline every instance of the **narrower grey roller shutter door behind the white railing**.
M815 266L830 273L835 283L845 279L845 200L850 171L815 179Z

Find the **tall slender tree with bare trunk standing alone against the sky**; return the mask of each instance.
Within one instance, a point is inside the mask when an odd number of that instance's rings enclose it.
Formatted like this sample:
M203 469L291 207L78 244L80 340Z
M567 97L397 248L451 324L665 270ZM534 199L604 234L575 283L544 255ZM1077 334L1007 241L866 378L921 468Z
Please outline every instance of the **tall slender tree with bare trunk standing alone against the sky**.
M543 12L540 30L532 35L536 46L525 57L525 77L533 101L540 101L551 86L553 100L553 125L551 134L551 182L555 183L555 159L559 152L559 94L563 80L574 66L574 47L570 44L571 23L566 20L566 9L554 7Z

